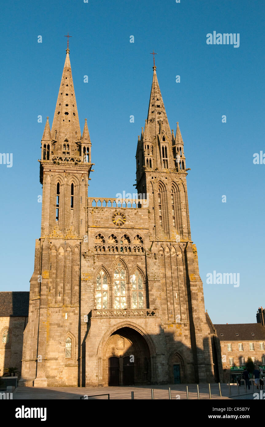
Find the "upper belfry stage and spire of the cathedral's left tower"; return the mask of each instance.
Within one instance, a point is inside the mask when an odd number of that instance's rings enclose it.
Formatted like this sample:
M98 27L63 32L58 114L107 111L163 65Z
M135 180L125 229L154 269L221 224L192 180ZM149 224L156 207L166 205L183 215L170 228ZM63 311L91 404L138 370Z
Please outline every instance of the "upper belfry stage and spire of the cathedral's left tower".
M85 234L91 142L87 119L83 135L80 132L69 53L67 47L52 129L47 117L41 140L41 236L52 232L64 236L71 232L76 237Z

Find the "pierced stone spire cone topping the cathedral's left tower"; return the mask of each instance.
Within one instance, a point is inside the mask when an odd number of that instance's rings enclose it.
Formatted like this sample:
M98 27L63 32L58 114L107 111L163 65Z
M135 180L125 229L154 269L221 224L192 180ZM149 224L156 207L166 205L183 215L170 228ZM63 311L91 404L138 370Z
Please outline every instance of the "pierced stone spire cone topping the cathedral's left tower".
M57 141L55 143L54 154L60 152L61 145L67 140L70 146L70 155L74 155L76 152L76 143L81 140L81 132L69 52L70 50L67 47L51 134L52 139Z

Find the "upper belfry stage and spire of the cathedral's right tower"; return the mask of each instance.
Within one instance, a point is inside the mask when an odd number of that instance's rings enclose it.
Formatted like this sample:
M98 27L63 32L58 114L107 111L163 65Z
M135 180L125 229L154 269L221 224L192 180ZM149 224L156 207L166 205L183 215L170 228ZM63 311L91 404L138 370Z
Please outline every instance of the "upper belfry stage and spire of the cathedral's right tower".
M190 238L183 140L178 123L176 136L170 131L155 65L153 70L148 115L138 137L136 188L149 195L154 239L180 241Z

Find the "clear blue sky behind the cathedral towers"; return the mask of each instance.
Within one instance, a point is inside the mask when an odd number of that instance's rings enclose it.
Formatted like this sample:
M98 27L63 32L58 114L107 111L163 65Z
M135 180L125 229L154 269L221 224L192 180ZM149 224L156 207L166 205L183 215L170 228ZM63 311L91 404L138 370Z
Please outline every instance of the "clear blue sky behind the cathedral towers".
M89 196L134 193L154 49L169 125L179 122L191 168L205 308L213 323L256 322L265 305L265 164L253 164L253 154L265 152L264 2L25 0L1 9L0 152L13 153L13 166L0 164L0 290L29 290L41 224L40 142L47 115L52 125L69 32L79 121L83 129L87 117L95 163ZM208 45L213 31L239 33L239 47ZM214 270L239 273L240 286L207 284Z

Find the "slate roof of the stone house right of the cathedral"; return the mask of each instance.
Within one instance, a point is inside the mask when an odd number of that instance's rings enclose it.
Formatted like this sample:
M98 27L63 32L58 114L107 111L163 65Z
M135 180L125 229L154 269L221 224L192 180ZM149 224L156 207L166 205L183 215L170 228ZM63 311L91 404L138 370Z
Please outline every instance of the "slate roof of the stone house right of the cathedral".
M265 328L261 323L231 323L214 325L220 341L255 341L265 340ZM221 336L221 333L223 336ZM236 335L238 333L238 336ZM254 333L254 335L251 335Z

